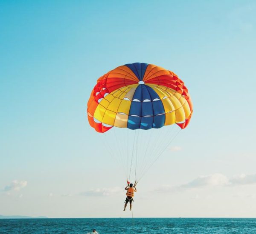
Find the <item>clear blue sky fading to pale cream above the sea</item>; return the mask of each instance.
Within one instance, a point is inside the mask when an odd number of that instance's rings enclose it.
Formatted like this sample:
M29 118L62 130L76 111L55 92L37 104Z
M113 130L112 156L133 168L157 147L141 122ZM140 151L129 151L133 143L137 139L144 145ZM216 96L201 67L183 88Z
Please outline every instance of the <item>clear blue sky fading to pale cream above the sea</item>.
M129 217L86 108L98 77L144 62L178 74L194 114L143 178L137 216L253 216L255 14L254 1L1 1L1 214Z

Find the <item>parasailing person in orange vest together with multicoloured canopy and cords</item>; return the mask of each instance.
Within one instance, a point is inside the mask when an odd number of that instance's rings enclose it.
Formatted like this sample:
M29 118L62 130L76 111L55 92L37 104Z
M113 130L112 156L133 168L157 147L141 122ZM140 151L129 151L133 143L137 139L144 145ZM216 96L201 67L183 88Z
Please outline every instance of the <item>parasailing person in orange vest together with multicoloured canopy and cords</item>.
M129 180L131 172L135 174L134 179L141 179L179 132L173 136L164 134L163 137L160 130L156 131L160 137L151 134L152 131L147 132L150 136L147 141L146 138L139 137L139 133L142 134L140 130L150 131L153 128L167 128L171 125L184 129L188 126L192 113L192 100L184 82L174 72L148 63L128 63L99 77L87 102L88 122L97 132L113 132L111 128L120 128L120 134L124 131L121 130L123 128L135 131L134 139L131 141L133 146L129 143L128 133L125 140L123 133L122 137L116 137L114 132L116 144L108 133L104 134L103 140L105 143L109 139L110 142L106 143L105 148L119 160L124 167L125 177ZM137 129L140 130L136 131ZM128 148L126 154L120 145L122 142ZM145 150L141 144L144 142ZM148 149L151 145L153 150ZM112 150L116 146L119 153ZM141 170L138 169L140 177L137 177L137 160L138 166L142 165ZM135 181L134 185L129 184L125 187L125 208L130 202L131 210L137 183Z

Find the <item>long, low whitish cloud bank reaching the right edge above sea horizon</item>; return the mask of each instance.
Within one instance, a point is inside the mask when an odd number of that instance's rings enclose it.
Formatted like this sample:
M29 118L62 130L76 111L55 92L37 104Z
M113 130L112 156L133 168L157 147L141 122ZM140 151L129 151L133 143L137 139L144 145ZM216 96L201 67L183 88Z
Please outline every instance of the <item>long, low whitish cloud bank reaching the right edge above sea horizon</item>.
M238 186L238 185L249 185L256 184L256 174L241 174L228 178L227 176L216 173L206 176L200 176L194 180L178 185L162 185L160 188L157 188L157 191L161 192L170 192L170 191L181 191L184 189L193 189L193 188L202 188L202 187L224 187L224 186Z

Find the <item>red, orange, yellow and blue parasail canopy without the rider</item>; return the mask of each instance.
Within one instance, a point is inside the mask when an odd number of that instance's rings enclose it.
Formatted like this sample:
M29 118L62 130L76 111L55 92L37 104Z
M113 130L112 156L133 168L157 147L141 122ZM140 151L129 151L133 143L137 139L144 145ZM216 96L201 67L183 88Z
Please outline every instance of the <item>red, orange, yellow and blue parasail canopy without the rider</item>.
M90 126L98 132L113 126L186 128L192 115L188 89L175 73L156 65L119 66L97 80L87 103Z

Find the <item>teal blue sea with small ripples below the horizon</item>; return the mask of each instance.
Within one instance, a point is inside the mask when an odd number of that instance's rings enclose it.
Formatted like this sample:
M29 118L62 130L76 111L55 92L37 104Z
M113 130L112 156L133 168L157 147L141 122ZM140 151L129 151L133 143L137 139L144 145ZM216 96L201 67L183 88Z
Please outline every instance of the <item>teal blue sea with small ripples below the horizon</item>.
M3 219L0 234L256 234L256 219L240 218L86 218Z

